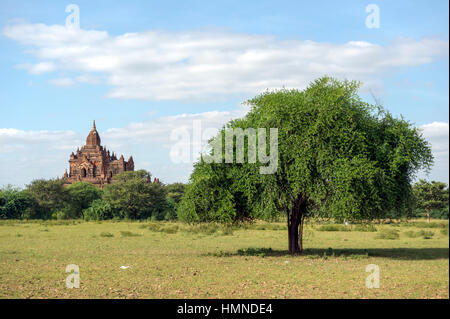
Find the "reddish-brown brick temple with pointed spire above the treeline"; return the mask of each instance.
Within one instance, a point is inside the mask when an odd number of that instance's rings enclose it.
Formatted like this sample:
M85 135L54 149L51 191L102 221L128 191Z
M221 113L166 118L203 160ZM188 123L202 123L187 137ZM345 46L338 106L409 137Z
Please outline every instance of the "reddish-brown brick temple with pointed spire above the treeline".
M86 145L70 155L70 170L67 173L66 169L63 177L65 185L84 181L103 188L105 184L111 183L114 175L134 171L132 156L128 161L124 160L123 155L117 159L116 155L101 146L100 142L100 135L94 121L86 138Z

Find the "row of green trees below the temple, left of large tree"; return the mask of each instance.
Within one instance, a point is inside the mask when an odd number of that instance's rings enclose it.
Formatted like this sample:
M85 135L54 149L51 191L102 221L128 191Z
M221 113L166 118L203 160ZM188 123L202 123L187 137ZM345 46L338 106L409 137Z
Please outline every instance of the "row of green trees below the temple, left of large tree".
M102 189L87 182L34 180L0 189L1 219L175 220L184 184L151 183L145 170L124 172Z

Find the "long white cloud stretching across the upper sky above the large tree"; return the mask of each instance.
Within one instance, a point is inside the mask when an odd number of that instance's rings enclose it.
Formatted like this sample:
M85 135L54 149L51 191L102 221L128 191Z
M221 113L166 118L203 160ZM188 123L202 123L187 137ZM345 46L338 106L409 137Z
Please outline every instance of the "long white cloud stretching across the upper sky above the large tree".
M438 38L398 39L381 46L365 41L282 41L220 30L112 36L26 23L9 25L3 34L31 46L29 52L40 63L55 65L48 69L101 74L112 87L107 96L142 100L253 95L282 86L301 89L325 74L380 89L385 72L448 56L448 41ZM38 65L27 69L45 69Z

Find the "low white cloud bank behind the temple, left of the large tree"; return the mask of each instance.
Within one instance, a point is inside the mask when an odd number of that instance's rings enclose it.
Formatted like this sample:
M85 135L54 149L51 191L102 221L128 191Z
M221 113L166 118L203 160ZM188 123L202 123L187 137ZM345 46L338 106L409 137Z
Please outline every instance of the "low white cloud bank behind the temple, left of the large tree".
M194 121L201 121L203 129L220 129L230 119L242 117L246 112L247 108L242 106L232 111L179 114L105 131L101 122L96 124L102 145L116 154L124 154L126 159L133 155L136 168L147 169L164 182L187 182L192 163L171 161L169 150L175 143L170 140L171 132L185 128L192 138ZM8 183L23 186L37 178L61 177L68 168L70 153L85 144L88 133L0 128L0 187Z

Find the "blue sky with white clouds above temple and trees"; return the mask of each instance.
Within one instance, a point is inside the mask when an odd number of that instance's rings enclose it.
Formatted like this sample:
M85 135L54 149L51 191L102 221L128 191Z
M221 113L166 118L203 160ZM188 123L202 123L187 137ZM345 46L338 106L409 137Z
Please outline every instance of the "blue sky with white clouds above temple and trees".
M448 17L439 0L0 0L0 186L62 176L93 120L136 169L187 182L243 102L324 75L420 128L435 164L417 178L448 183Z

